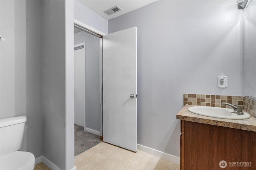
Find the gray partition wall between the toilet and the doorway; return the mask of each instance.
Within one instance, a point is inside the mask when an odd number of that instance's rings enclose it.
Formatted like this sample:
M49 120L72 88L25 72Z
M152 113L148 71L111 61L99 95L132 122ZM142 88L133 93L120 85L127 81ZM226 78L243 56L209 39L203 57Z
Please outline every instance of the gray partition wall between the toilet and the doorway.
M73 1L42 1L43 156L74 168Z

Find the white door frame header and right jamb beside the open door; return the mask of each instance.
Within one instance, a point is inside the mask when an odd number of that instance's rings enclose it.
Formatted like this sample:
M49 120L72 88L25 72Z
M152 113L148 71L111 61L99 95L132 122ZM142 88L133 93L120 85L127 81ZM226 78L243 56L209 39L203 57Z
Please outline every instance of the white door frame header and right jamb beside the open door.
M98 29L95 29L81 21L78 21L76 19L74 19L74 27L76 28L79 28L83 31L86 31L92 35L95 35L97 37L100 37L101 38L101 41L100 41L100 62L99 62L99 69L100 69L100 139L103 140L103 81L102 81L102 37L103 35L106 35L106 33L103 33L102 31L98 30ZM85 125L85 124L84 124Z

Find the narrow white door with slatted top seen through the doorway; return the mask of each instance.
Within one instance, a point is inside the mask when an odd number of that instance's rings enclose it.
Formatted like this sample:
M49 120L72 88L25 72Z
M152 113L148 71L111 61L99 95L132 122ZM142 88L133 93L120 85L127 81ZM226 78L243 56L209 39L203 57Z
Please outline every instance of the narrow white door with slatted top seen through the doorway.
M85 128L85 43L74 46L74 122Z

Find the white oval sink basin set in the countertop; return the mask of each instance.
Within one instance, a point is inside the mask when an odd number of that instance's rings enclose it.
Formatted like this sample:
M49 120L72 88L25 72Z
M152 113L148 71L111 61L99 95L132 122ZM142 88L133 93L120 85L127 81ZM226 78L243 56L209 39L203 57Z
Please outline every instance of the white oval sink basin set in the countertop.
M216 117L221 119L248 119L250 115L244 112L244 115L237 115L233 109L221 108L221 107L209 107L209 106L192 106L188 108L188 111L196 113L198 115Z

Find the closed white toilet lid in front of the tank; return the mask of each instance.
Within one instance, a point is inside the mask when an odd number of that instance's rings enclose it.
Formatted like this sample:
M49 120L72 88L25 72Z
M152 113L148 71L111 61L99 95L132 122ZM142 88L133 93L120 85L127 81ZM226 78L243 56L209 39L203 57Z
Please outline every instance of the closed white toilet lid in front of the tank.
M0 157L0 170L23 170L35 163L30 152L16 151Z

